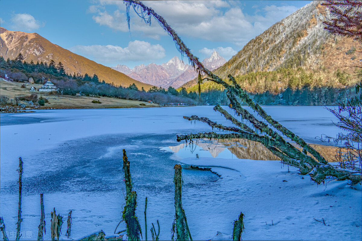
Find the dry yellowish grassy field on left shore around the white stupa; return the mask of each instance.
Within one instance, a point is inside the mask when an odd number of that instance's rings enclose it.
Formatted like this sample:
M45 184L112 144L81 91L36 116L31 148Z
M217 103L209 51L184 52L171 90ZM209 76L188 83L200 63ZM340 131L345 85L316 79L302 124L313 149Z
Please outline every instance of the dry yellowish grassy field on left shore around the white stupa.
M159 107L157 104L150 104L144 101L122 100L109 97L90 97L90 96L70 96L56 93L52 95L44 92L30 92L30 88L39 89L42 84L26 84L25 88L21 88L22 83L0 81L0 95L6 96L9 99L15 97L30 96L31 93L36 93L38 98L41 96L49 102L41 106L41 109L87 109L87 108L144 108L144 107ZM92 101L100 101L101 104L92 103ZM144 105L140 105L140 104Z

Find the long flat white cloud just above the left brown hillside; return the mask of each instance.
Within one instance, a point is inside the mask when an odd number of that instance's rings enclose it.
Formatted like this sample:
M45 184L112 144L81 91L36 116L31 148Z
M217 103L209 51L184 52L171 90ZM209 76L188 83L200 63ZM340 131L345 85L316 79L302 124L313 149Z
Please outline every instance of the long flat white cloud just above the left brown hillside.
M145 41L131 41L125 48L114 45L76 45L69 49L72 52L102 63L121 63L124 61L147 61L165 57L165 49Z

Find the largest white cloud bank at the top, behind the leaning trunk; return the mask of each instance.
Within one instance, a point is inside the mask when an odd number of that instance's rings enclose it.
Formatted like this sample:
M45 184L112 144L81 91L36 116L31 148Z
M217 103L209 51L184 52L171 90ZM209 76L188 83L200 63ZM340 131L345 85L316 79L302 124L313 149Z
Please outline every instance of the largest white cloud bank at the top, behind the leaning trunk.
M231 42L244 45L250 39L261 34L282 18L297 10L295 6L264 6L263 11L253 16L244 14L238 2L226 1L143 1L155 12L165 18L168 24L181 36L190 36L215 42ZM109 14L105 9L113 5L117 10ZM232 5L232 6L231 6ZM126 22L126 6L120 1L99 1L92 11L94 21L116 31L129 31ZM152 19L152 24L145 24L130 9L131 32L141 31L150 38L159 39L167 35L162 27Z

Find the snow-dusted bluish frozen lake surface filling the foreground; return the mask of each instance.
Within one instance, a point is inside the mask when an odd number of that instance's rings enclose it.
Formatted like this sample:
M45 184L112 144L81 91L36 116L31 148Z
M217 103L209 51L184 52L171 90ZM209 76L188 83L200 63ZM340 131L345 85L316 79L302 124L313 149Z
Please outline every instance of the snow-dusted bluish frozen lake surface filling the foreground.
M265 110L310 143L321 144L315 136L335 136L339 131L332 123L335 117L323 107ZM72 210L74 239L100 229L111 235L125 203L122 149L131 162L140 224L144 229L147 196L148 229L158 219L161 240L171 237L177 163L216 166L212 171L221 176L183 170L182 203L194 240L213 238L217 231L228 237L240 211L245 215L244 240L361 240L360 185L330 181L317 186L308 175L298 175L293 167L289 172L278 161L184 158L166 151L165 147L180 144L175 141L177 133L211 131L204 123L190 124L182 118L193 114L228 124L211 106L1 114L0 216L10 240L16 231L19 157L24 161L21 240L37 237L40 193L44 193L46 240L54 207L64 221ZM118 230L124 228L120 226ZM62 231L65 238L66 223Z

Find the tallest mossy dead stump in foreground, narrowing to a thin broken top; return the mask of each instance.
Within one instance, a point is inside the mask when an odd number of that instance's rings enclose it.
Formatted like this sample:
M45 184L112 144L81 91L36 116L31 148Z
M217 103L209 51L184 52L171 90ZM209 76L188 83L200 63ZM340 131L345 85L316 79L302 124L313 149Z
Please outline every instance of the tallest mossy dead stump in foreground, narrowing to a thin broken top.
M128 240L140 240L139 236L142 236L142 230L136 216L137 194L135 191L132 191L130 162L128 161L125 149L123 149L123 171L125 172L126 183L126 205L123 210L122 219L126 223Z

